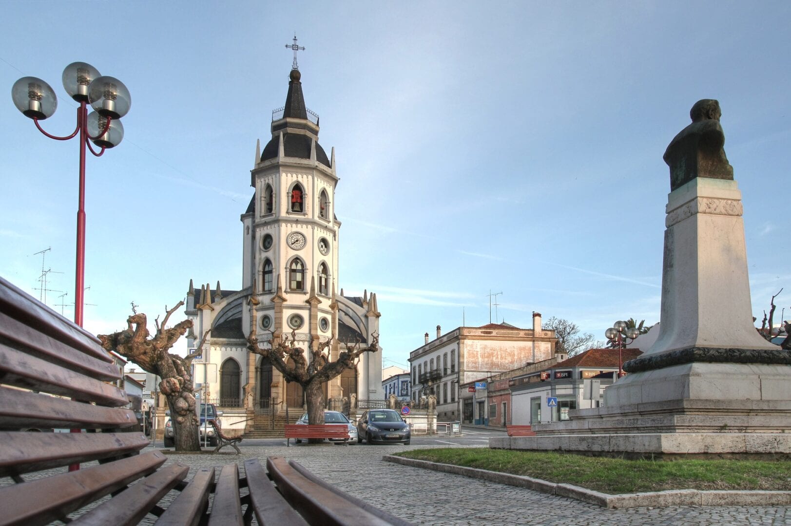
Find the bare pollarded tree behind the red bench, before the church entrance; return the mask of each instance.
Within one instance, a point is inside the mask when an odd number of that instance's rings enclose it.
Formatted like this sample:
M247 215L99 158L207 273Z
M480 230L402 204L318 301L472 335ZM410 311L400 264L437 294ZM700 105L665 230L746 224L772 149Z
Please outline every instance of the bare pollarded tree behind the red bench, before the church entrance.
M297 345L296 331L292 331L290 336L269 331L271 338L268 341L259 340L255 328L258 327L255 314L258 301L252 297L251 303L252 327L248 336L248 350L267 358L286 381L300 384L305 391L305 402L308 405L308 424L324 424L325 400L322 384L339 376L343 369L354 369L361 354L377 352L379 335L372 335L372 341L367 346L362 346L359 341L341 342L344 350L340 351L335 361L330 359L335 335L324 342L311 340L308 342L308 360L305 349ZM267 346L261 347L262 343Z

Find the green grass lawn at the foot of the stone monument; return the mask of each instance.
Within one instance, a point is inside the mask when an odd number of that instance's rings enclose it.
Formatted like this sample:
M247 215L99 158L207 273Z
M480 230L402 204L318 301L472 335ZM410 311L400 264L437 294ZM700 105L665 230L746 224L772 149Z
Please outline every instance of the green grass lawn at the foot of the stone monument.
M607 494L689 489L791 491L791 460L625 460L489 448L415 449L397 455L574 484Z

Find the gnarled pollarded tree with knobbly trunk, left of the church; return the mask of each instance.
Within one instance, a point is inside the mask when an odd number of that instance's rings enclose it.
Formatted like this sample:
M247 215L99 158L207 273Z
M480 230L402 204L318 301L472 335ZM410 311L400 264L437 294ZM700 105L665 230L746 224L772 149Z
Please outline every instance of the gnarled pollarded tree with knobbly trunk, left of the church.
M168 352L174 343L192 327L192 320L180 321L173 327L166 327L173 312L184 305L168 310L165 306L165 319L159 323L154 320L157 333L151 336L147 327L146 315L134 312L127 318L127 328L112 335L99 335L102 346L124 358L129 358L148 373L160 377L159 390L168 400L176 451L200 451L199 420L195 411L195 391L192 383L192 360L200 356L203 344L210 331L204 333L195 351L185 357Z

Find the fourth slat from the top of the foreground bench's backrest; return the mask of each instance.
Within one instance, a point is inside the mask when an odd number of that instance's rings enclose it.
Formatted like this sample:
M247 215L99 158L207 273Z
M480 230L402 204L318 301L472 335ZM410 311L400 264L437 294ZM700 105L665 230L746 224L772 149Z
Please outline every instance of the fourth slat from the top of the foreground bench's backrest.
M131 409L94 406L58 396L0 386L0 429L85 428L138 426Z

